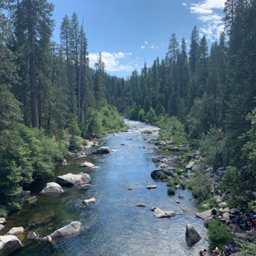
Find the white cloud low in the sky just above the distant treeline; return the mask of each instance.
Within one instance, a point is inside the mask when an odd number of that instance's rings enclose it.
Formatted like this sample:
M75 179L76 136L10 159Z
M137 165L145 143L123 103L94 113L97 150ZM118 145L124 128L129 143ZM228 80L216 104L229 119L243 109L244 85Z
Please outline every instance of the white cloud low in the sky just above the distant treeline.
M133 67L120 63L121 59L132 56L132 53L107 53L102 52L103 62L105 63L105 71L132 71ZM98 53L89 53L89 66L94 67L98 62Z

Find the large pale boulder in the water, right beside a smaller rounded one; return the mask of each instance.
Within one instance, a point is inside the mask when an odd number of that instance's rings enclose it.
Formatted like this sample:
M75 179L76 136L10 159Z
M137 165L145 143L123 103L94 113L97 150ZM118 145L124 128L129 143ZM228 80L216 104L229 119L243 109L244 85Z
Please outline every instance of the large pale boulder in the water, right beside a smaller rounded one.
M57 176L56 182L60 185L81 186L88 184L90 180L89 174L80 172L80 174L67 173Z

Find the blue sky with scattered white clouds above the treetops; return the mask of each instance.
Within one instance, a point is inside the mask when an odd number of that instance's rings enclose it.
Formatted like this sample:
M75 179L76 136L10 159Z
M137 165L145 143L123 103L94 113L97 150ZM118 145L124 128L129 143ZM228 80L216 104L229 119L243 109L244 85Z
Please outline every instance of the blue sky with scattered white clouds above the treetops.
M171 34L187 51L194 25L200 37L205 34L208 48L224 29L221 21L225 0L48 0L53 2L55 30L53 40L59 43L63 17L75 12L88 39L89 65L94 67L100 52L105 71L110 75L131 75L146 62L166 56Z

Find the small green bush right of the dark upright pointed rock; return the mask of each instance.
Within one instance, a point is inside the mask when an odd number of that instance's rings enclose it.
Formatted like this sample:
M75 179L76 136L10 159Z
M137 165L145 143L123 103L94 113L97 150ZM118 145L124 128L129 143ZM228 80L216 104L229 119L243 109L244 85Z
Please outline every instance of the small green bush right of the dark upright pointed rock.
M226 229L226 225L221 222L210 222L208 224L208 240L211 243L210 249L214 249L216 246L218 249L225 250L226 244L232 244L235 237L230 231Z

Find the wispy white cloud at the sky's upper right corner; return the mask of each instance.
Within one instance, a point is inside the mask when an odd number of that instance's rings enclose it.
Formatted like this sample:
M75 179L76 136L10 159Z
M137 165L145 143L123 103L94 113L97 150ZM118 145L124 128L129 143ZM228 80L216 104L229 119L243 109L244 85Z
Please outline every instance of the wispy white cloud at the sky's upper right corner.
M197 3L191 3L190 6L183 6L190 9L190 12L197 15L203 22L203 27L199 28L200 35L205 34L206 38L214 41L219 37L224 29L222 21L222 10L226 0L204 0Z

